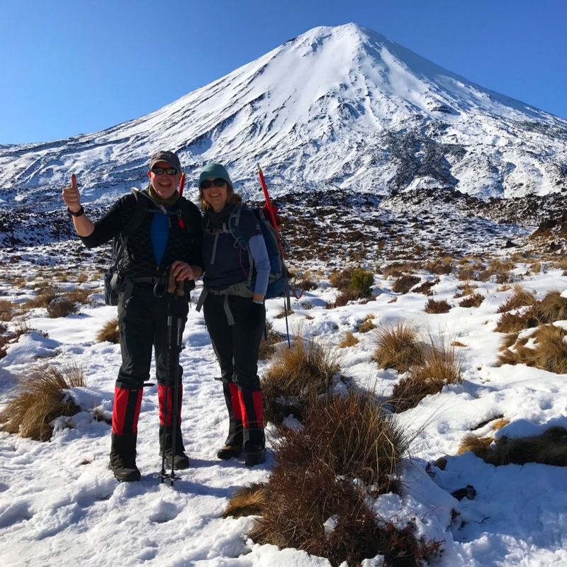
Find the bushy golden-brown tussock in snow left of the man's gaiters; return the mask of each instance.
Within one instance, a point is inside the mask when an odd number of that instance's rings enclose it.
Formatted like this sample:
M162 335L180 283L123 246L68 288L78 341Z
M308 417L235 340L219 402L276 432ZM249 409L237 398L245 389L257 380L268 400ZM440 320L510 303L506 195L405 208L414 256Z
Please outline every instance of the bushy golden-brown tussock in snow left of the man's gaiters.
M33 370L18 383L18 395L0 412L1 429L36 441L51 439L50 422L61 415L75 415L81 410L67 398L64 390L86 386L79 366L57 369L48 364Z

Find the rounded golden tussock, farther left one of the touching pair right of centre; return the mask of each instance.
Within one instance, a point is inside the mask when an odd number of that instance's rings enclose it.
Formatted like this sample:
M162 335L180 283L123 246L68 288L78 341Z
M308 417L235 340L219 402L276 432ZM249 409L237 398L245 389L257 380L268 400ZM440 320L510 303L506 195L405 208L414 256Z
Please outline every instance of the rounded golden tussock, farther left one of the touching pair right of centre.
M386 325L376 332L376 349L372 360L381 369L392 368L406 372L423 357L423 349L417 342L417 333L405 322Z

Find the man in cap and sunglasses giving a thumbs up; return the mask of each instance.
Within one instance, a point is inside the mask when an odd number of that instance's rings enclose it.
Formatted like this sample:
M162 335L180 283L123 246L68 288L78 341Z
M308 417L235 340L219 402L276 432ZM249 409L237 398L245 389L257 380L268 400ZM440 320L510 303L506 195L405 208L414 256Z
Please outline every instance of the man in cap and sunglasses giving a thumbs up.
M155 152L150 158L147 175L150 178L147 191L121 197L96 223L92 223L84 212L74 174L71 185L62 191L77 235L88 248L112 240L127 228L132 230L130 219L140 206L146 211L139 225L128 235L119 272L118 328L122 365L114 395L110 467L118 481L125 482L140 480L135 463L137 420L142 388L150 378L152 346L158 384L159 453L165 451L167 461L170 465L173 461L176 469L189 467L181 439L180 419L176 431L172 430L173 388L169 388L168 399L165 399L167 313L171 298L167 293L167 280L169 271L176 281L191 281L203 273L201 213L177 191L181 179L179 157L174 152ZM181 303L177 309L184 326L189 311L189 293L182 299L184 301L176 303ZM175 369L170 370L169 383L173 384ZM181 366L178 371L181 376ZM181 381L177 399L179 407L176 411L180 418Z

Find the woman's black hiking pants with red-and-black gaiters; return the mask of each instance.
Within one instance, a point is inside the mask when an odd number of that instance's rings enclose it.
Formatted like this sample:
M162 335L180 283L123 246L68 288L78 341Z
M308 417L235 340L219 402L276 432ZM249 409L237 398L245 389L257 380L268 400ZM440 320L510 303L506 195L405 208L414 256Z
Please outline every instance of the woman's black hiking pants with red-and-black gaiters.
M228 296L228 307L235 320L228 324L225 313L227 296L209 293L203 315L213 344L220 380L228 409L227 445L239 445L246 451L264 449L264 410L258 377L258 350L265 321L249 327L252 298Z

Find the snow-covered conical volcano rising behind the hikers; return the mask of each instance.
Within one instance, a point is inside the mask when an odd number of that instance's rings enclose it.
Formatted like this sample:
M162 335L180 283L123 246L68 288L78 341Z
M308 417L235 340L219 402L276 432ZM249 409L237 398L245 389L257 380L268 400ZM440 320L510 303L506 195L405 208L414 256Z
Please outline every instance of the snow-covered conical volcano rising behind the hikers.
M159 147L179 152L188 186L215 160L248 196L259 189L257 162L275 193L544 195L567 189L566 142L567 120L349 23L314 28L137 120L0 146L0 204L59 207L56 189L72 172L85 201L106 201L145 181Z

